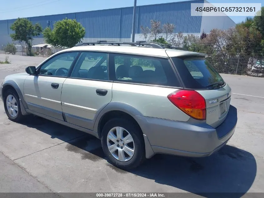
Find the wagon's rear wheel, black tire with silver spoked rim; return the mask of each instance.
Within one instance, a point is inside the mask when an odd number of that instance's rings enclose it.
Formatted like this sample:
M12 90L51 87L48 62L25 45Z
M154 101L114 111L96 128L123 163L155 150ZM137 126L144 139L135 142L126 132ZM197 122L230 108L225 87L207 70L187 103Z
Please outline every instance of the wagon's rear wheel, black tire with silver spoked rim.
M142 131L134 122L114 118L102 129L101 144L111 163L121 169L132 169L145 159Z

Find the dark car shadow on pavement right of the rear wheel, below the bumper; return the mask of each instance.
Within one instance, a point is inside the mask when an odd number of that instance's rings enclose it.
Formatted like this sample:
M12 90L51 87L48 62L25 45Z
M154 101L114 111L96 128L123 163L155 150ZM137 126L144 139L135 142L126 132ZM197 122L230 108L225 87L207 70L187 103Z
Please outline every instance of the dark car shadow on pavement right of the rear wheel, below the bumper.
M257 164L251 153L225 145L205 158L155 155L131 172L205 197L241 197L256 177Z

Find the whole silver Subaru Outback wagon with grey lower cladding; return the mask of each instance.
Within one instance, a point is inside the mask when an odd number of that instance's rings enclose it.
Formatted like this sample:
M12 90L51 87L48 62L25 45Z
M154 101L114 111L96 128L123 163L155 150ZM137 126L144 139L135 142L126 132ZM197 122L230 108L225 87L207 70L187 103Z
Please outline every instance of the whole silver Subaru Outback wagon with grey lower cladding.
M35 114L92 134L122 169L157 153L204 157L237 124L231 88L206 56L158 43L80 43L7 76L0 94L9 119Z

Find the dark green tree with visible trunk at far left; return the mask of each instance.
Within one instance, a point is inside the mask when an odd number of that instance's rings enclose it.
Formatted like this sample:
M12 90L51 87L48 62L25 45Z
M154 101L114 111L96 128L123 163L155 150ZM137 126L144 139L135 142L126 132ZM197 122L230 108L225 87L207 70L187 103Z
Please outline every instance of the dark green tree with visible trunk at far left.
M42 32L42 28L39 23L35 25L32 24L26 18L18 18L12 25L11 30L15 31L15 33L10 34L13 41L25 41L27 43L29 56L32 56L32 40L34 36L40 35Z

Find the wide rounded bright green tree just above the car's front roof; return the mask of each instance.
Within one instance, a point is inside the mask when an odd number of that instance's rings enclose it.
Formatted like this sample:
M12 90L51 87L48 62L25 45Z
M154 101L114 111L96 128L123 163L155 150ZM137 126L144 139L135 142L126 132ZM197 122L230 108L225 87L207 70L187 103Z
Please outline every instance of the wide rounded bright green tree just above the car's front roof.
M54 24L53 30L47 27L43 31L46 43L54 47L72 48L85 36L85 29L76 19L63 19Z

